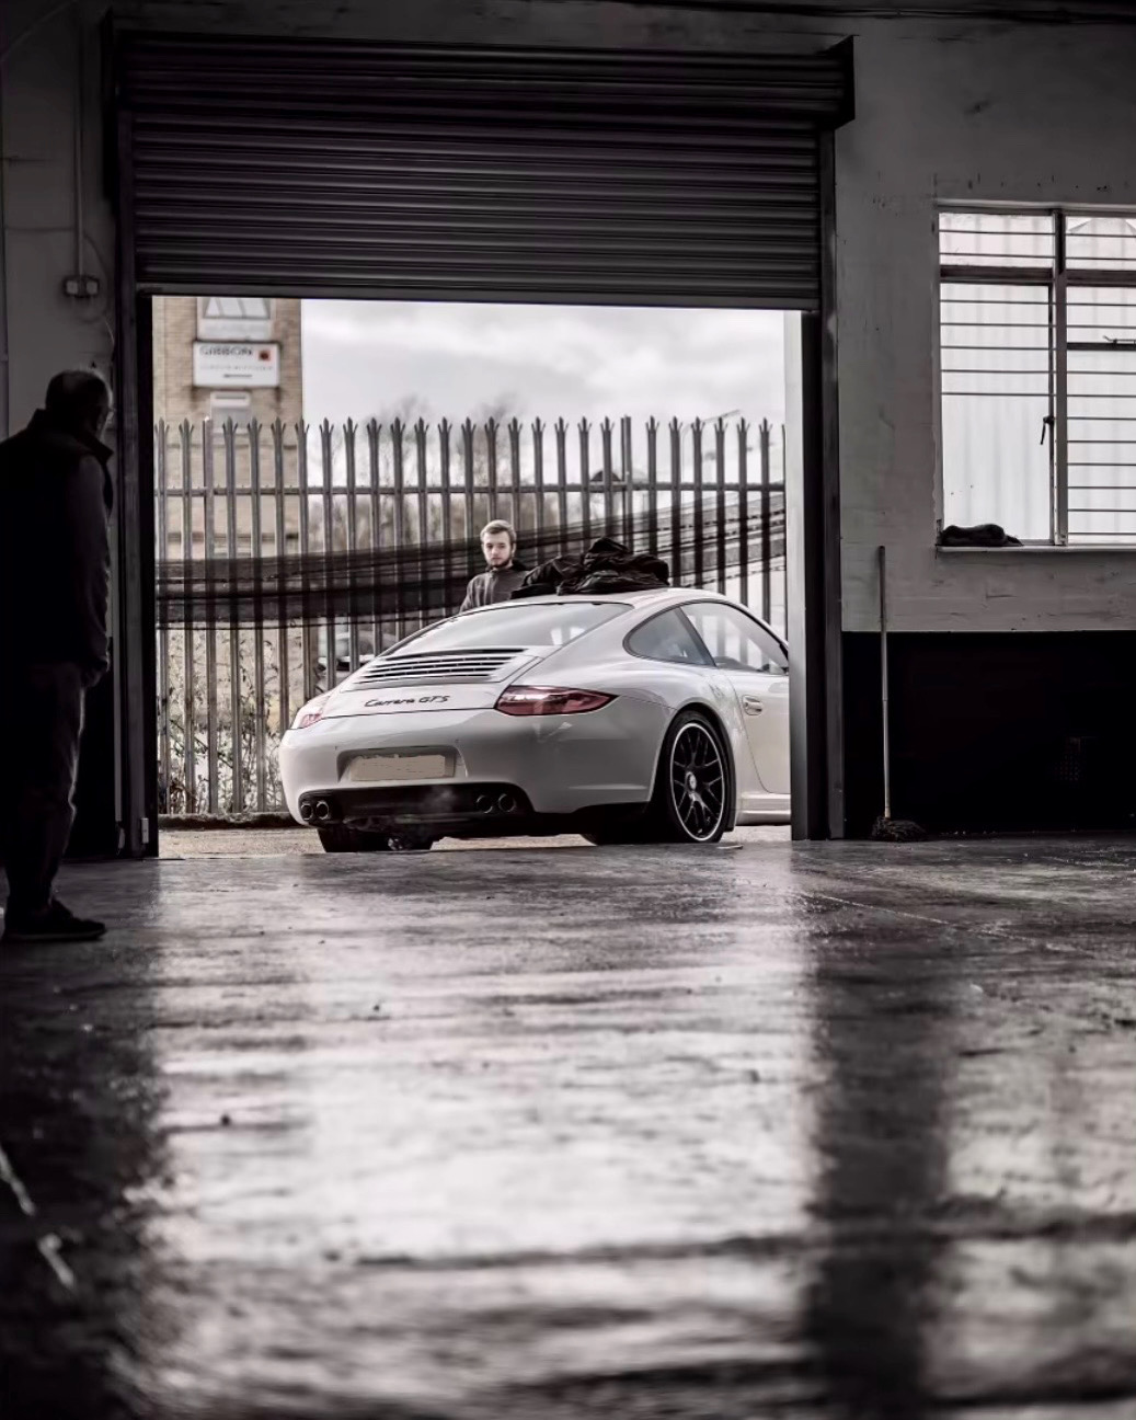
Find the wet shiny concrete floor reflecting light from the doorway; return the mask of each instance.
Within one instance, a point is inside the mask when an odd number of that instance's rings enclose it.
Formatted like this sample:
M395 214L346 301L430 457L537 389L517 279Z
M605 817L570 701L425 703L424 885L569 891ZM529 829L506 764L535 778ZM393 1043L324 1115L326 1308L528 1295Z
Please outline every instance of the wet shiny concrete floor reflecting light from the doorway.
M71 868L6 1420L1136 1416L1136 841Z

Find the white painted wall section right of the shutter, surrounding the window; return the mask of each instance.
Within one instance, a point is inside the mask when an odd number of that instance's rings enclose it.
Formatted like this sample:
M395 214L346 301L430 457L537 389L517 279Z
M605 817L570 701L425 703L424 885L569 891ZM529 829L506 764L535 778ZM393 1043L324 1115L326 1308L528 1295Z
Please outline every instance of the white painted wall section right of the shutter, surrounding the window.
M937 202L1136 206L1136 28L875 24L836 135L843 623L1136 626L1132 551L934 551Z

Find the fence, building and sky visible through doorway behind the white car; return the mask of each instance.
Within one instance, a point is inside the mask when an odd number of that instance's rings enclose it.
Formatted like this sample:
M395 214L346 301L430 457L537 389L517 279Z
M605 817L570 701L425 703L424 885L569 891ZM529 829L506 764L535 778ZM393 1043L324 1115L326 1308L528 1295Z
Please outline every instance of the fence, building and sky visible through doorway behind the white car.
M494 518L528 567L611 537L785 635L780 312L158 297L151 324L163 852L284 821L283 731L457 611Z

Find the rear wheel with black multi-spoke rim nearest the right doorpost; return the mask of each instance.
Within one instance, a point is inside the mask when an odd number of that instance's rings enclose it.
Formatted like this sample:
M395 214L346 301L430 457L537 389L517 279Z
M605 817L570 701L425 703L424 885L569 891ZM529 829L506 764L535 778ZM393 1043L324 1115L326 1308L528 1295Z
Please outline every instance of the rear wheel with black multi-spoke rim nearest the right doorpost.
M721 731L700 710L680 711L663 736L643 838L717 843L730 819L733 780Z

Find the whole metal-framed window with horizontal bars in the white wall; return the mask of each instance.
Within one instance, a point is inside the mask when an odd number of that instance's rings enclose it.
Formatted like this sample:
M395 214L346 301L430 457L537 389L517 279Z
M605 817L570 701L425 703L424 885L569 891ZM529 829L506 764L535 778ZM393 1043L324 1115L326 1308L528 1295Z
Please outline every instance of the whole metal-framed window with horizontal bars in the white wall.
M939 213L943 521L1136 547L1136 212Z

